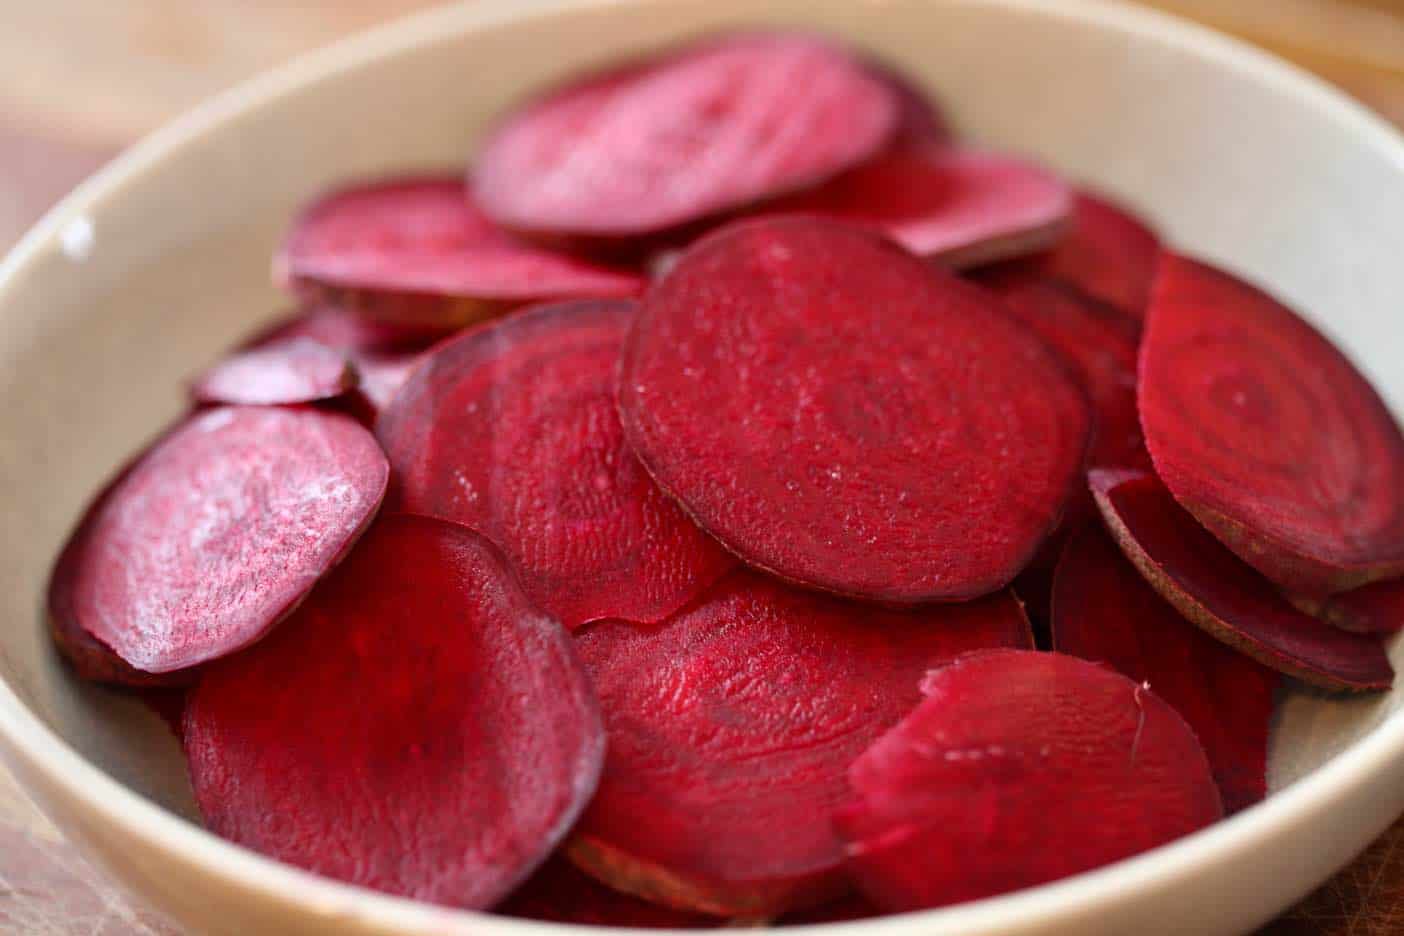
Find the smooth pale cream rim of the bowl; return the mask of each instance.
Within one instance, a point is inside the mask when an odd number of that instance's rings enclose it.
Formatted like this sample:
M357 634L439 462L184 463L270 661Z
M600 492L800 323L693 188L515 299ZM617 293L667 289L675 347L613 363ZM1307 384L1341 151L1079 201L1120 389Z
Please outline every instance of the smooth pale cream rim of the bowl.
M409 53L414 48L510 21L531 21L560 11L590 11L621 6L643 6L661 0L466 0L435 7L399 21L336 42L296 58L291 63L244 81L195 107L174 122L146 136L77 187L52 208L0 260L0 314L20 274L45 251L56 248L67 226L101 212L119 198L136 178L160 171L166 160L198 142L208 131L257 111L271 100L334 79L386 55ZM883 0L875 0L882 3ZM1247 42L1223 35L1158 10L1123 6L1116 0L956 0L956 3L1002 7L1097 28L1120 31L1174 45L1213 60L1216 65L1251 74L1328 112L1348 126L1365 145L1398 164L1404 177L1404 135L1363 104L1328 86L1321 79ZM500 928L500 932L550 936L562 923L497 916L477 911L435 907L326 878L215 836L202 827L167 811L124 786L88 762L51 730L0 678L0 754L17 766L58 787L69 801L81 803L124 836L146 849L194 866L204 876L225 878L264 901L298 905L323 918L327 925L355 922L390 932L446 933L466 928ZM1273 831L1294 825L1309 815L1344 805L1370 777L1404 758L1404 713L1394 713L1373 727L1330 762L1231 818L1167 846L1106 867L1052 884L960 904L942 909L897 914L842 923L812 923L793 928L812 932L824 926L834 936L856 936L886 930L896 933L913 923L928 932L959 936L1016 930L1050 919L1071 918L1119 894L1168 885L1191 876L1213 860L1247 856ZM646 932L625 928L595 928L601 932ZM668 932L668 930L647 930ZM675 930L682 932L682 930Z

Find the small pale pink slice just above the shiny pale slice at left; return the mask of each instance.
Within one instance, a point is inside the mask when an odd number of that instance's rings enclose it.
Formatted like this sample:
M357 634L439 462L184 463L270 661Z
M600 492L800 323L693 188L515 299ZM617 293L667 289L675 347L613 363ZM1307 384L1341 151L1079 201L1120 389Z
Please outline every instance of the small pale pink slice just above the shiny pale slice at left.
M357 386L347 355L312 338L236 352L191 386L197 403L279 406L338 397Z

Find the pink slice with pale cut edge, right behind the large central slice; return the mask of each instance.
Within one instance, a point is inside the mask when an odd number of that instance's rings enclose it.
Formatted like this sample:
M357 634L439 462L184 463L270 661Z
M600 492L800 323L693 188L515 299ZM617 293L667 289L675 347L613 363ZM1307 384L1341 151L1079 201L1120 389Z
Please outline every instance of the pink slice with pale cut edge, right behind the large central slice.
M946 267L977 267L1053 246L1071 189L1021 160L953 146L887 150L838 178L767 205L880 232Z

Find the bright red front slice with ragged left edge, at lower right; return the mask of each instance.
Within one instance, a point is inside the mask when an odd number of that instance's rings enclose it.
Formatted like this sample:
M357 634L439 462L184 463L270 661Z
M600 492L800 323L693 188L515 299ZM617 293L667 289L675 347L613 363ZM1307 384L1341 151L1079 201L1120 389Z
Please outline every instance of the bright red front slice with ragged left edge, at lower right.
M1074 657L969 654L848 772L835 817L887 911L943 907L1130 857L1223 814L1195 733L1143 685Z

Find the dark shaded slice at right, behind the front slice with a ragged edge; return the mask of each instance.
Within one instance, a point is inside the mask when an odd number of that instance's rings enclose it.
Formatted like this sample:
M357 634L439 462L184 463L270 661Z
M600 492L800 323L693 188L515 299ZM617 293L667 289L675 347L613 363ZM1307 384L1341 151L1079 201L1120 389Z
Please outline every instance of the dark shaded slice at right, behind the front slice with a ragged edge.
M1280 676L1186 622L1099 526L1068 540L1053 581L1053 648L1147 683L1205 745L1224 808L1268 794Z

